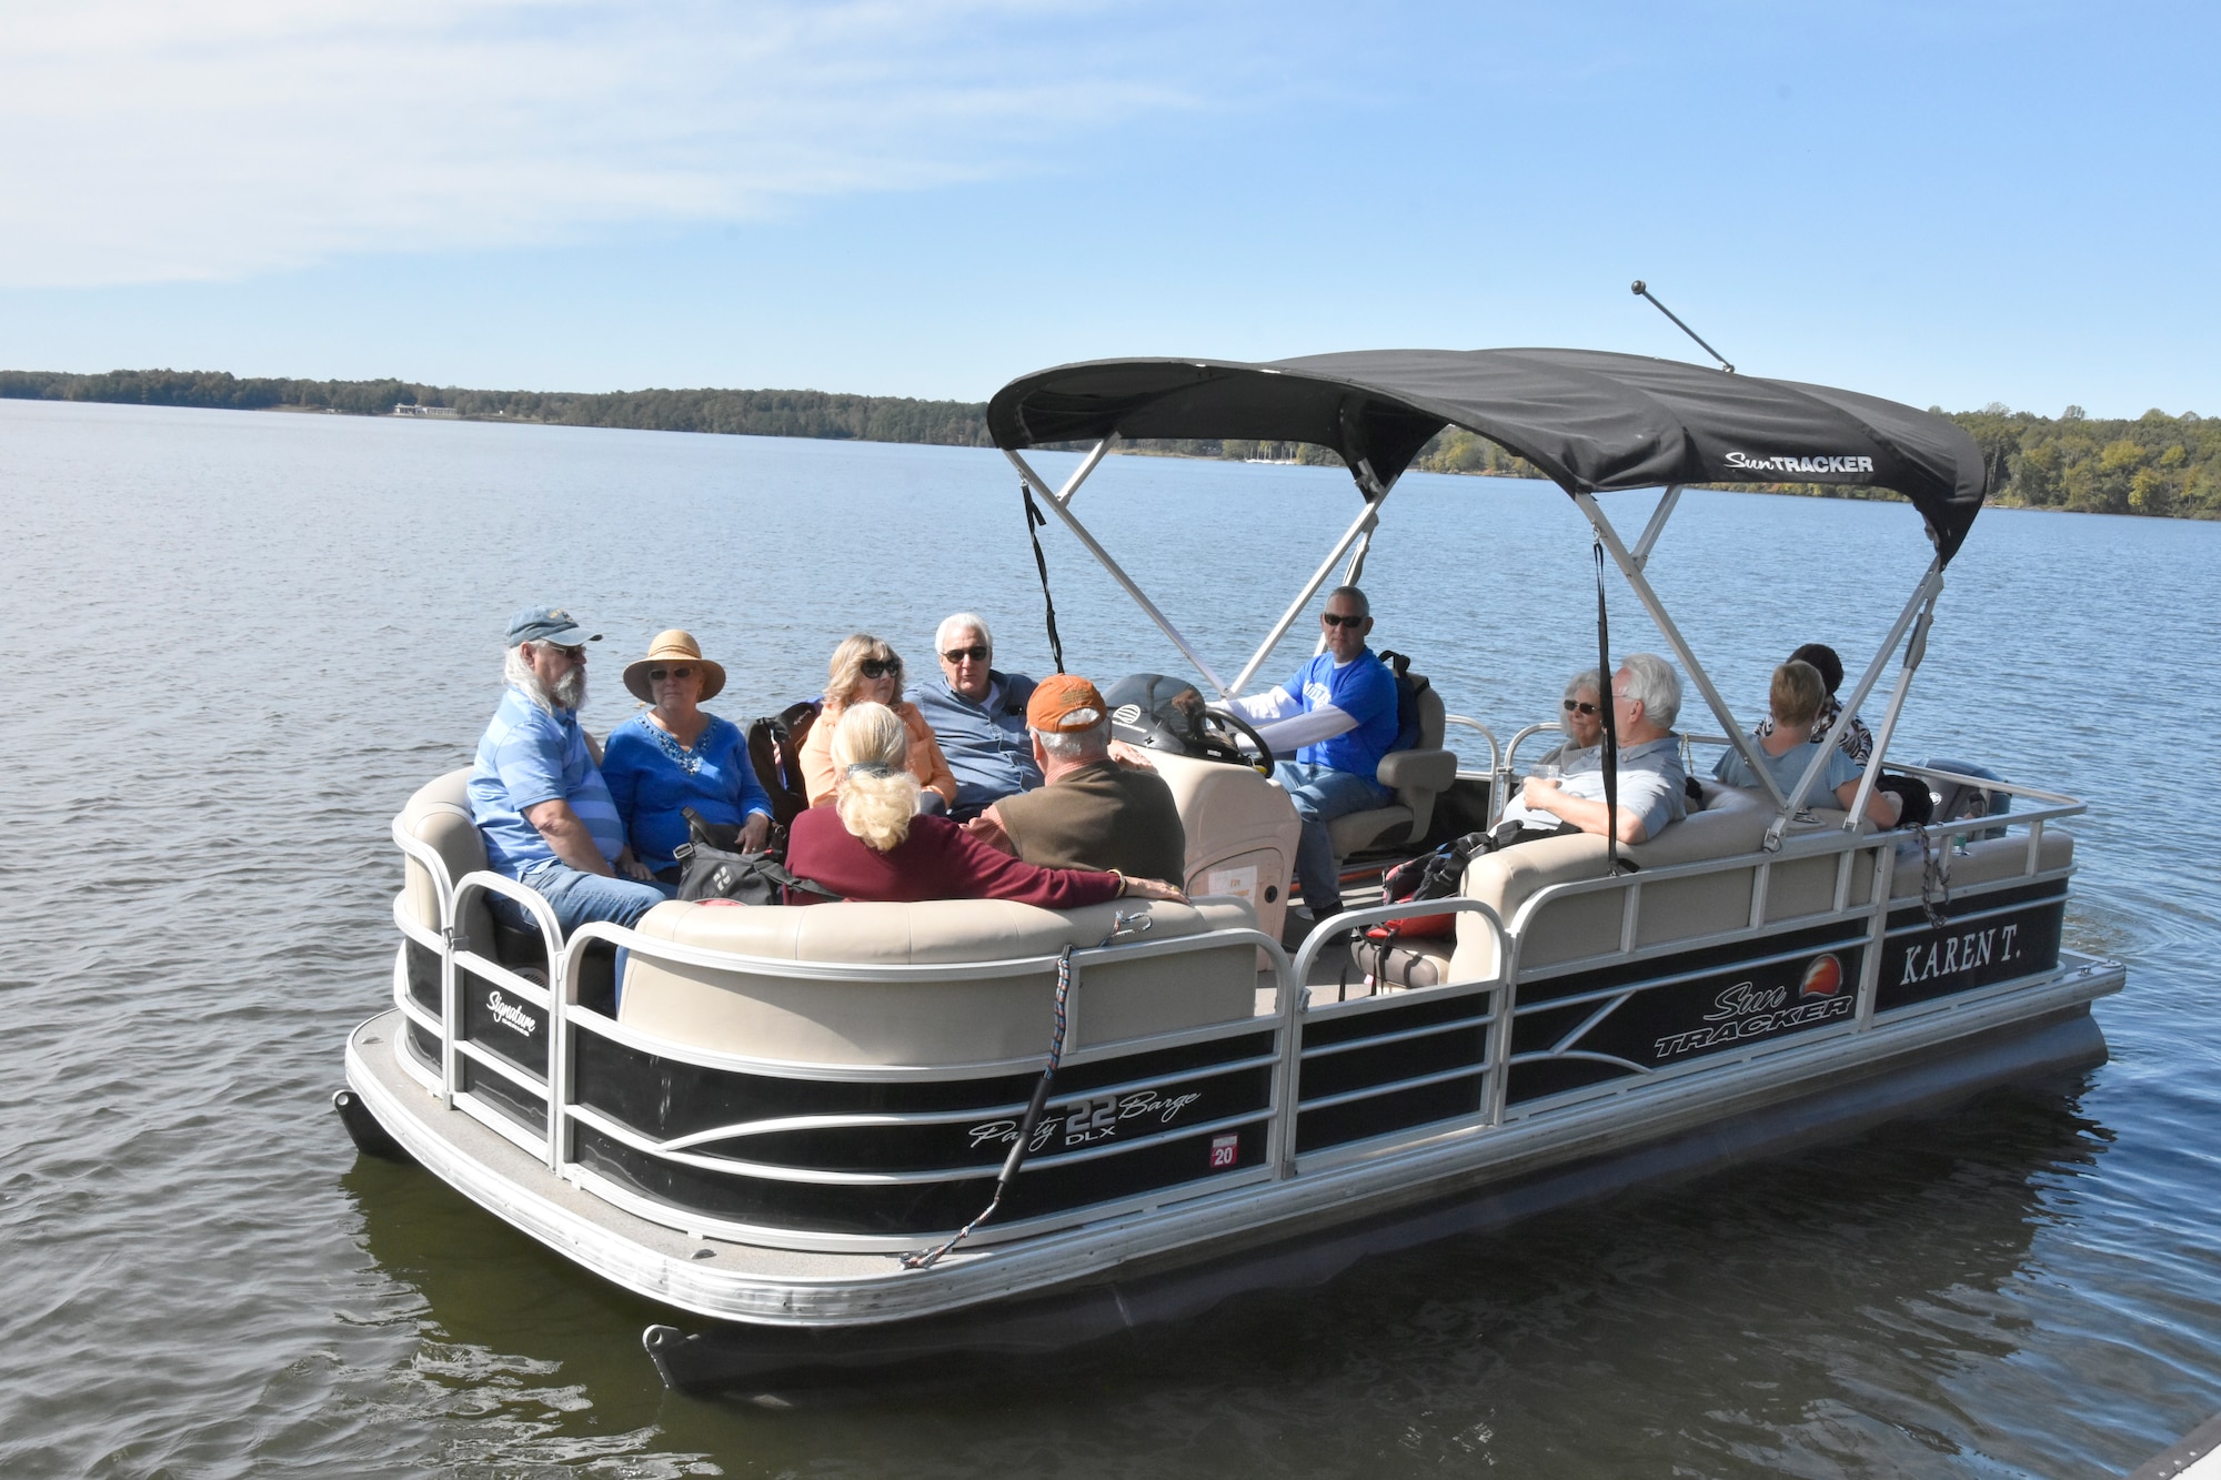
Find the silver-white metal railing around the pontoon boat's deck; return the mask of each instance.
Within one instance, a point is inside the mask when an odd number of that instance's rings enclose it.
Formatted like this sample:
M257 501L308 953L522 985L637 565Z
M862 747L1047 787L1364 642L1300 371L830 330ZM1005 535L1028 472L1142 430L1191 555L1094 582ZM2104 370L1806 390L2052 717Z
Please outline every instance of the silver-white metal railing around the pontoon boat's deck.
M1495 747L1495 736L1484 729L1481 733L1490 740L1490 760L1497 776L1513 764L1515 753L1526 738L1555 729L1555 724L1526 727L1501 751ZM1701 736L1692 740L1704 742ZM1073 1227L1124 1211L1210 1196L1250 1182L1299 1178L1313 1169L1348 1162L1350 1158L1361 1156L1393 1153L1397 1147L1417 1144L1421 1140L1486 1133L1488 1129L1504 1124L1508 1118L1532 1113L1539 1104L1550 1104L1555 1100L1513 1109L1508 1109L1506 1100L1510 1071L1515 1062L1524 1062L1515 1053L1515 1024L1521 1016L1519 982L1530 978L1535 982L1544 982L1566 973L1595 971L1604 964L1630 964L1668 953L1701 951L1737 942L1763 942L1763 938L1783 931L1815 931L1817 927L1841 924L1846 944L1866 944L1857 1013L1850 1022L1841 1024L1841 1029L1837 1029L1837 1024L1828 1024L1823 1031L1863 1031L1872 1027L1877 973L1883 953L1881 947L1890 933L1890 916L1895 911L1917 909L1926 902L1923 896L1892 893L1892 869L1897 867L1901 851L1926 838L1930 842L1930 856L1937 851L1948 856L1954 849L1966 849L1970 838L1986 840L2006 829L2023 829L2028 833L2028 844L2017 858L2017 869L2008 876L1999 876L1990 869L1979 880L1979 887L1990 891L2037 878L2054 878L2068 873L2070 867L2052 871L2041 867L2043 829L2059 818L2086 811L2086 807L2074 798L2041 791L2037 787L1959 776L1928 767L1901 769L1930 780L1986 787L1992 793L2037 802L2037 807L2017 813L1932 822L1923 829L1899 829L1890 833L1846 833L1832 827L1815 829L1806 833L1790 833L1781 849L1772 853L1737 853L1715 860L1641 869L1617 878L1557 882L1521 900L1508 922L1499 918L1488 902L1473 898L1426 900L1424 904L1377 904L1346 911L1321 922L1302 942L1293 960L1277 940L1246 927L1213 929L1184 938L1135 938L1073 951L1075 984L1084 980L1091 967L1113 960L1135 962L1146 958L1177 958L1190 951L1215 951L1226 947L1242 947L1246 951L1253 949L1264 958L1266 971L1262 976L1270 978L1273 991L1270 1013L1259 1011L1250 1018L1233 1018L1204 1027L1186 1027L1117 1042L1091 1042L1086 1049L1075 1049L1064 1056L1068 1067L1079 1067L1157 1049L1188 1049L1190 1044L1210 1044L1242 1036L1268 1033L1270 1040L1257 1044L1255 1051L1237 1051L1228 1058L1208 1060L1204 1069L1204 1073L1270 1069L1270 1087L1262 1109L1242 1109L1235 1120L1228 1122L1253 1127L1262 1122L1266 1127L1264 1156L1257 1164L1244 1164L1224 1176L1184 1182L1177 1187L1162 1187L1142 1196L1113 1198L1108 1202L1086 1202L1082 1207L1042 1218L988 1227L975 1236L975 1242L986 1244L1055 1227ZM1019 976L1037 978L1055 971L1055 956L946 964L797 962L788 958L755 958L680 944L604 922L586 924L577 929L569 942L562 942L553 911L535 891L491 871L473 871L460 880L451 880L440 853L413 838L406 838L400 829L395 829L395 844L404 851L413 867L424 869L429 876L440 916L440 929L431 931L424 927L424 920L409 909L406 891L395 900L395 924L404 938L402 962L395 969L395 1004L406 1013L411 1031L418 1036L415 1051L420 1056L429 1056L433 1042L438 1044L435 1071L426 1073L424 1069L411 1069L411 1073L424 1080L426 1089L438 1093L444 1104L486 1124L509 1142L531 1153L555 1176L577 1182L604 1200L671 1227L684 1227L697 1233L715 1231L724 1238L744 1238L797 1249L906 1247L933 1233L946 1233L935 1229L904 1231L902 1236L797 1233L793 1229L748 1227L686 1211L682 1207L646 1198L633 1187L620 1187L593 1167L582 1164L577 1158L577 1131L582 1127L593 1129L602 1138L624 1140L629 1147L646 1156L689 1167L733 1171L740 1176L840 1182L842 1178L855 1180L866 1173L813 1173L808 1169L757 1164L746 1158L735 1158L731 1156L731 1147L726 1147L726 1153L717 1156L704 1156L695 1151L695 1147L708 1142L746 1142L751 1136L813 1127L853 1129L866 1122L924 1124L933 1120L935 1113L902 1111L880 1118L860 1118L857 1113L844 1111L820 1118L804 1116L800 1120L744 1120L728 1127L695 1127L684 1136L655 1140L637 1133L635 1129L615 1124L595 1107L580 1102L575 1084L575 1044L582 1033L597 1036L637 1053L653 1053L700 1069L760 1073L791 1080L908 1082L919 1078L995 1078L1037 1073L1046 1062L1048 1022L1042 1024L1042 1053L1022 1056L1017 1060L937 1067L762 1060L731 1051L693 1047L626 1027L615 1016L582 1002L580 989L593 971L606 969L600 964L589 967L589 956L617 951L693 971L731 971L740 976L788 980L906 987L926 987L933 982L979 982ZM1994 853L1997 849L1992 847L1988 851ZM1828 858L1835 860L1835 878L1823 909L1783 916L1768 907L1770 882L1777 871L1797 867L1810 871L1812 860ZM1863 902L1855 902L1855 880L1861 869L1868 871L1868 891ZM1748 909L1741 911L1741 918L1732 924L1732 929L1719 929L1701 936L1668 929L1659 940L1646 942L1646 898L1650 893L1657 893L1661 887L1679 880L1728 871L1748 871L1750 876L1746 900ZM1810 889L1810 880L1803 887ZM1604 891L1619 891L1621 896L1617 931L1612 931L1608 940L1597 940L1595 951L1555 956L1548 964L1530 969L1524 960L1524 951L1528 949L1537 918L1577 896ZM473 916L473 907L480 907L482 902L491 904L493 896L511 900L531 920L544 951L546 982L533 980L515 967L504 964L498 960L491 940L471 940L460 929L460 922ZM1313 1000L1315 993L1310 989L1310 978L1319 969L1326 951L1333 949L1341 936L1350 929L1413 913L1461 916L1466 918L1464 929L1468 933L1473 929L1486 929L1486 940L1493 944L1495 971L1479 980L1450 980L1437 987L1417 989L1388 989L1386 984L1379 984L1368 996L1350 1000ZM422 991L431 960L438 960L438 1013L429 1011L431 1002L424 1000ZM1557 996L1539 1002L1537 1011L1544 1004L1555 1011L1595 998L1599 1004L1597 1016L1601 1018L1601 1013L1610 1011L1615 996L1624 998L1626 991L1628 989L1621 987L1604 987L1586 996ZM1071 1042L1079 1042L1077 1016L1084 1011L1084 998L1075 991L1075 1024L1071 1029ZM535 1033L540 1042L520 1053L493 1051L475 1031L493 1022L506 1027L524 1044L531 1044ZM411 1031L398 1033L395 1038L406 1040L411 1038ZM1570 1040L1572 1036L1568 1036L1568 1042ZM1799 1042L1803 1040L1806 1036L1799 1036ZM493 1042L506 1040L502 1036L493 1036ZM400 1049L400 1042L395 1047ZM1723 1058L1715 1056L1704 1062L1717 1064L1743 1056L1748 1053L1732 1051ZM1532 1053L1528 1058L1532 1058ZM1381 1064L1386 1060L1397 1062L1388 1069L1368 1069L1355 1078L1348 1073L1350 1064ZM1335 1076L1344 1076L1348 1082L1337 1082ZM1157 1076L1157 1080L1166 1078L1166 1073ZM1310 1087L1306 1087L1306 1078L1313 1080ZM1095 1084L1086 1093L1146 1093L1150 1084L1153 1080L1144 1076L1130 1084L1124 1080L1108 1087ZM1073 1093L1077 1096L1079 1091ZM1439 1111L1428 1111L1424 1120L1397 1120L1395 1116L1401 1111L1381 1111L1386 1116L1381 1120L1386 1129L1377 1133L1368 1131L1366 1116L1384 1104L1397 1102L1397 1096L1401 1096L1401 1102L1406 1104L1433 1096L1428 1102L1437 1104ZM1064 1096L1055 1098L1062 1100ZM964 1109L948 1111L939 1118L977 1118L986 1113L1015 1116L1022 1109L1022 1104L991 1104L984 1109L966 1104ZM1182 1133L1197 1133L1206 1129L1219 1127L1182 1127ZM1117 1153L1119 1149L1122 1147L1102 1147L1057 1151L1051 1156L1071 1164L1086 1156L1106 1156ZM964 1164L948 1167L931 1176L937 1180L982 1180L984 1187L984 1178L991 1178L993 1171L993 1164ZM904 1180L911 1173L871 1176L886 1182ZM928 1173L917 1176L924 1178Z

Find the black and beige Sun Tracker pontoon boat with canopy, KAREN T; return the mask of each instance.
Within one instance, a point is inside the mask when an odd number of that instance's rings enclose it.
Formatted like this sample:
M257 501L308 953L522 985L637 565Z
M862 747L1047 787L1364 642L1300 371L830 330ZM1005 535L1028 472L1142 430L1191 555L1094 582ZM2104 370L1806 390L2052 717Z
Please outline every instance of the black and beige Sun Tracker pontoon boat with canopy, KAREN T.
M1910 498L1934 556L1843 702L1897 660L1872 787L1986 491L1952 422L1586 351L1071 364L1004 387L988 422L1193 669L1139 676L1119 713L1179 798L1193 904L671 902L562 940L537 896L486 871L464 771L393 820L393 1002L349 1038L349 1129L666 1307L646 1344L669 1382L1071 1342L2103 1060L2090 1002L2123 967L2061 947L2072 798L1899 767L2010 811L1877 836L1850 820L1863 789L1846 816L1806 798L1812 773L1783 796L1755 764L1763 791L1706 787L1652 840L1477 858L1459 898L1428 904L1455 933L1364 980L1344 936L1410 907L1319 920L1290 953L1295 813L1213 718L1330 576L1359 576L1397 476L1459 427L1572 498L1710 742L1746 751L1646 576L1679 487ZM1350 524L1230 678L1075 511L1122 438L1310 442L1355 478ZM1088 451L1062 487L1026 458L1073 444ZM1628 489L1664 489L1632 544L1601 498ZM1419 744L1381 762L1395 802L1335 824L1353 876L1493 818L1521 742L1552 729L1499 744L1430 689L1419 702ZM500 929L491 896L537 931Z

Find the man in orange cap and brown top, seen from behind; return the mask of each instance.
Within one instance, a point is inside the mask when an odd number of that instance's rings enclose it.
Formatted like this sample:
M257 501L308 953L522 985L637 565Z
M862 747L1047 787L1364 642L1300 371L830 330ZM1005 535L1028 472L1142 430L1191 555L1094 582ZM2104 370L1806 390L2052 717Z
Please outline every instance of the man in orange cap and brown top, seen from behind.
M1077 673L1044 678L1026 700L1042 784L1006 796L968 827L1051 869L1117 869L1184 884L1188 833L1155 771L1110 758L1110 707Z

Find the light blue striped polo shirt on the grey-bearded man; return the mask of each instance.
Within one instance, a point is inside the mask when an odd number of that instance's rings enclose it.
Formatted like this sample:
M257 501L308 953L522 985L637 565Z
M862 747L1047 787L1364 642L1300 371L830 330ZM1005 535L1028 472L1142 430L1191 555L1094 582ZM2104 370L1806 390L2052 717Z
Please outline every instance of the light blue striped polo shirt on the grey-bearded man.
M615 862L624 851L624 822L586 751L577 711L549 713L511 689L493 711L471 767L471 820L486 838L486 862L495 873L524 878L526 869L555 858L540 829L524 820L540 802L571 802L602 858Z

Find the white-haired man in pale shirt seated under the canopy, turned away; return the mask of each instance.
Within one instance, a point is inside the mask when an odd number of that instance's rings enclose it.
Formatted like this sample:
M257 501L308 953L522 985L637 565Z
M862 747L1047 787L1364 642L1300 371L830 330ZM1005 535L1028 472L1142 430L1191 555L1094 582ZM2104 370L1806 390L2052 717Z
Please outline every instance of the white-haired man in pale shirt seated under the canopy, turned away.
M1619 842L1657 838L1688 816L1688 771L1681 769L1681 680L1657 653L1630 653L1612 673L1612 733L1619 736ZM1497 822L1493 847L1557 833L1606 831L1604 767L1568 771L1564 780L1528 778Z

